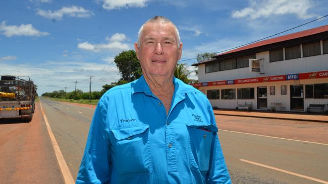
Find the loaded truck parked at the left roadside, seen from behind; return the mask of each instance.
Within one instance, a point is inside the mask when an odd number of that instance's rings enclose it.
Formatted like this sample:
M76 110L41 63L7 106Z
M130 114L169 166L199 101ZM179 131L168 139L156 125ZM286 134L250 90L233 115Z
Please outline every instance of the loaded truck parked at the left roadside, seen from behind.
M0 79L0 120L19 118L30 122L37 86L29 76L1 75Z

